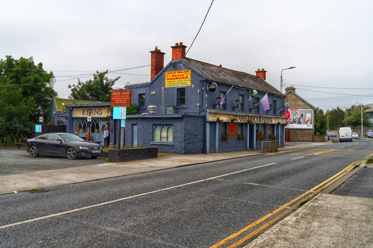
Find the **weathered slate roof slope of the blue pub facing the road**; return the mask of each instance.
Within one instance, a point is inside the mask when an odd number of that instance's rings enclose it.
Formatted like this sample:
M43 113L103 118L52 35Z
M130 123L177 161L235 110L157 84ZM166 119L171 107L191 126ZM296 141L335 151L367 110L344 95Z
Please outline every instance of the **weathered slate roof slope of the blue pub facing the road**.
M203 75L209 81L226 84L227 86L233 85L236 87L246 88L248 90L256 90L258 92L285 96L261 77L240 71L233 71L195 59L184 58L183 61L185 61L190 67Z

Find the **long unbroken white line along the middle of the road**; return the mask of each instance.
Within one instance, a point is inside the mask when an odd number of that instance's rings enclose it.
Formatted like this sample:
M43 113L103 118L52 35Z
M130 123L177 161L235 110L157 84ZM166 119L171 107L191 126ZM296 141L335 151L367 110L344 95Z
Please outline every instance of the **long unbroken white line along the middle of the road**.
M272 163L272 164L276 164L276 163ZM157 193L157 192L161 192L161 191L165 191L165 190L175 189L175 188L190 185L190 184L201 183L201 182L212 180L212 179L215 179L215 178L225 177L227 175L233 175L233 174L236 174L236 173L241 173L241 172L244 172L244 171L257 169L257 168L272 165L272 164L260 165L260 166L253 167L253 168L250 168L250 169L235 171L235 172L224 174L224 175L218 175L216 177L210 177L210 178L194 181L194 182L191 182L191 183L184 183L184 184L180 184L180 185L176 185L176 186L172 186L172 187L168 187L168 188L164 188L164 189L154 190L154 191L150 191L150 192L146 192L146 193L142 193L142 194L136 194L134 196L128 196L128 197L112 200L112 201L109 201L109 202L98 203L98 204L94 204L94 205L91 205L91 206L80 207L78 209L72 209L72 210L65 211L65 212L55 213L53 215L47 215L47 216L43 216L43 217L39 217L39 218L35 218L35 219L24 220L24 221L21 221L21 222L16 222L16 223L12 223L12 224L9 224L9 225L0 226L0 229L1 228L7 228L7 227L10 227L10 226L20 225L20 224L24 224L24 223L33 222L35 220L47 219L47 218L51 218L51 217L54 217L54 216L64 215L66 213L77 212L77 211L84 210L84 209L89 209L89 208L92 208L92 207L103 206L103 205L106 205L106 204L109 204L109 203L120 202L120 201L123 201L123 200L131 199L131 198L135 198L135 197L139 197L139 196L145 196L145 195L148 195L148 194L153 194L153 193Z

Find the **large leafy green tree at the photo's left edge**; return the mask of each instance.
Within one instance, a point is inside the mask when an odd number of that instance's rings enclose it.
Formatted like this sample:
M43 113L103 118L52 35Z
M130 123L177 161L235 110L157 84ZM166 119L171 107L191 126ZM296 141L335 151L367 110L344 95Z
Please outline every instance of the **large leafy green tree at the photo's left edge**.
M35 65L34 59L6 56L0 59L0 139L12 139L29 132L30 123L39 121L40 109L50 115L53 97L54 75ZM18 141L16 139L16 141ZM14 142L13 142L14 143Z

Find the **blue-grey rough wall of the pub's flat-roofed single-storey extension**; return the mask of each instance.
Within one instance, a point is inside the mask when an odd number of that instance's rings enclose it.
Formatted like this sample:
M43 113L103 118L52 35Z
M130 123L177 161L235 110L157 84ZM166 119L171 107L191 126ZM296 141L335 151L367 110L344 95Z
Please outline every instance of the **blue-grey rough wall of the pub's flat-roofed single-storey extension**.
M137 143L145 147L157 146L160 152L181 154L204 153L204 118L193 115L132 115L127 116L125 144L132 144L133 125L137 125ZM153 142L154 125L172 125L172 144Z

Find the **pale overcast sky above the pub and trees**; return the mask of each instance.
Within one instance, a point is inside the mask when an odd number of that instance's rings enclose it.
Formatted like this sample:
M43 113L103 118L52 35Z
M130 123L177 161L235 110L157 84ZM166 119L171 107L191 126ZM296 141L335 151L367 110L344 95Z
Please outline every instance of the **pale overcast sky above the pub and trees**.
M170 46L189 49L211 1L3 1L0 59L42 62L61 98L97 70L141 67L109 78L121 76L115 87L148 82L149 51L158 46L166 65ZM282 71L283 82L313 106L370 104L372 13L371 0L214 0L186 57L253 75L264 68L278 90L281 70L295 66Z

